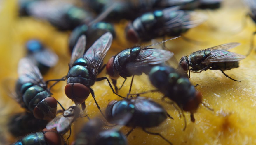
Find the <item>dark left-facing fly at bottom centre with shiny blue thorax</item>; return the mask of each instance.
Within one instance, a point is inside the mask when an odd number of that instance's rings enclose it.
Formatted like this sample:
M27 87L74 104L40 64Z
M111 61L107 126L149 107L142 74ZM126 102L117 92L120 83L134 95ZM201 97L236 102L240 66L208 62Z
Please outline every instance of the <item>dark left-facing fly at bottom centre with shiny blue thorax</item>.
M112 100L107 105L105 111L106 118L110 123L121 123L121 125L123 125L122 123L126 121L125 126L132 127L133 129L135 127L141 127L146 133L158 135L169 144L172 144L161 134L146 130L146 128L159 126L167 117L173 119L161 105L152 100L144 97L135 97L120 101ZM133 129L131 131L133 131ZM131 131L127 135L129 135Z

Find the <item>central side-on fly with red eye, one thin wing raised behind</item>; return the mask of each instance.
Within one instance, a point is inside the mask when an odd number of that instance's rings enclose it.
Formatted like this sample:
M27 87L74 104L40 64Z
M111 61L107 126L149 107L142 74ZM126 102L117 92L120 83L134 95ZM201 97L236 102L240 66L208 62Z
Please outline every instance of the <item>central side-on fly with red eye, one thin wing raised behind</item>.
M176 38L178 37L172 39ZM172 39L168 39L166 41ZM126 80L127 77L130 76L141 75L142 73L148 74L151 67L164 63L173 56L173 53L170 51L150 48L151 46L166 41L162 41L150 46L127 48L109 59L106 69L107 73L112 79L116 92L118 91L116 87L116 79L119 76Z

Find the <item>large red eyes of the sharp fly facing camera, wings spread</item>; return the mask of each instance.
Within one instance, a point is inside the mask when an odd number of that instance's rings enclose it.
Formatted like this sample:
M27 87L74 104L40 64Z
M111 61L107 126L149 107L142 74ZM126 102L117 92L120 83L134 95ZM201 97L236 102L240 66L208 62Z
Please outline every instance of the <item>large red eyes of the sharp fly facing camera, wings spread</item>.
M65 94L76 104L83 103L90 94L90 90L80 83L69 83L65 86Z

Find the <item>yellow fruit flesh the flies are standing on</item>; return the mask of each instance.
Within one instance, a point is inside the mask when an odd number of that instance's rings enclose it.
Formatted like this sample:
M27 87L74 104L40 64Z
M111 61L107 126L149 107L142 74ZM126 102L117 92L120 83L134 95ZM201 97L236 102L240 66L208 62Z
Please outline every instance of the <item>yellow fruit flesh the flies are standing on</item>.
M178 38L166 43L167 47L180 59L184 55L189 55L196 50L206 49L228 42L240 42L241 45L230 51L242 55L247 54L250 49L250 39L255 31L255 23L250 18L245 19L248 12L241 3L237 1L224 1L223 7L218 10L198 10L208 15L208 21L202 25L192 28L182 36L201 41L201 44L193 44ZM47 22L36 21L32 18L19 18L16 16L17 6L15 1L0 2L0 82L5 82L7 78L17 79L17 65L20 58L25 56L24 44L28 39L37 38L46 46L52 48L59 56L58 65L52 68L44 76L47 79L61 78L68 72L70 53L67 48L68 32L58 32ZM242 28L243 22L247 23L246 28ZM104 62L119 51L133 46L124 38L124 26L126 21L116 24L117 39L114 40ZM161 39L159 39L161 41ZM142 45L150 45L143 43ZM203 95L203 102L213 108L208 110L200 105L195 115L195 123L190 121L189 113L185 112L187 128L184 128L184 118L179 117L179 112L174 105L161 101L161 93L148 93L143 96L151 97L156 102L166 108L167 112L174 118L166 119L159 127L147 129L151 132L160 133L173 144L256 144L256 81L255 64L256 54L252 51L248 57L240 61L239 68L225 71L227 75L241 82L232 81L225 77L220 71L203 71L202 73L191 73L192 84L199 84L196 90ZM103 71L99 77L107 76ZM128 78L120 95L126 96L129 90L131 78ZM120 87L123 79L118 79L117 86ZM53 97L68 108L74 103L65 96L64 87L66 82L60 82L53 90ZM120 100L113 95L107 81L96 82L92 86L98 104L105 110L108 102L112 99ZM135 76L132 93L140 93L153 90L146 75ZM12 143L15 139L8 133L6 123L8 117L14 113L24 111L10 97L8 97L5 87L0 89L0 115L1 115L1 141L3 144ZM60 108L58 108L60 109ZM100 116L91 95L86 100L86 111L90 118ZM79 131L81 125L87 118L77 119L73 123L72 138ZM150 120L149 120L150 121ZM123 133L127 133L130 128L123 127ZM167 144L159 136L149 135L140 128L136 128L128 136L129 144Z

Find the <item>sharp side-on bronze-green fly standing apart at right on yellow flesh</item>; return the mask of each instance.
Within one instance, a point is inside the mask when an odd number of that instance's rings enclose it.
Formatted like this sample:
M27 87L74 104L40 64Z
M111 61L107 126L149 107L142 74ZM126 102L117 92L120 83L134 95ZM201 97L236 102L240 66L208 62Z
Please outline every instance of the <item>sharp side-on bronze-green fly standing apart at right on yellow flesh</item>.
M189 71L188 78L190 78L190 71L202 72L203 70L220 70L226 77L232 79L224 73L225 70L238 68L240 60L245 56L227 50L240 45L240 43L226 43L204 50L198 50L188 56L183 56L180 59L179 66L185 71ZM189 68L191 67L191 68ZM238 81L232 79L234 81Z

